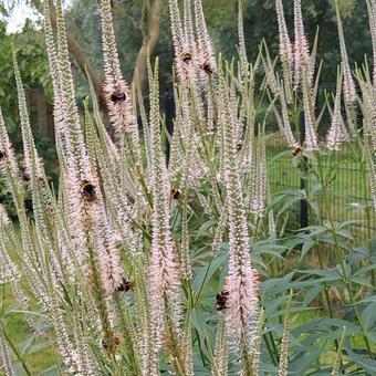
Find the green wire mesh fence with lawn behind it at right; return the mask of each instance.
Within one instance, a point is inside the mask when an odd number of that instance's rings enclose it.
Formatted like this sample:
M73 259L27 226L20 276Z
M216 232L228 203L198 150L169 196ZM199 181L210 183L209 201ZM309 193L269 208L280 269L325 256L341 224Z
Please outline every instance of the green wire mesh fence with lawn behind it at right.
M281 135L273 134L268 137L267 158L269 187L272 195L302 188L299 168L293 166L291 153ZM334 164L333 158L335 158ZM351 147L336 152L331 160L332 163L328 157L321 160L324 169L333 178L325 195L315 195L317 180L304 179L310 199L320 197L320 205L324 208L324 218L331 218L337 222L355 220L356 223L352 227L359 237L366 234L368 227L376 230L376 213L373 208L369 208L369 184L364 164L359 158L354 157ZM305 213L306 219L304 218L304 207L302 208L300 202L292 207L291 216L295 224L300 227L316 223L315 213L311 208Z

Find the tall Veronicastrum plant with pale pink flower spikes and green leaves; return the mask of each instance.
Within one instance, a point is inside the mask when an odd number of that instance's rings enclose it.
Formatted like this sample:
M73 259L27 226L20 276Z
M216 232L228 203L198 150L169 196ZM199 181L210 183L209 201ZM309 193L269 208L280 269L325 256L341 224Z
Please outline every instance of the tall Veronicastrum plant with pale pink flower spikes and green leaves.
M294 0L294 45L283 3L275 1L281 77L265 45L255 63L249 63L241 1L236 66L216 55L201 1L169 0L176 74L176 117L169 135L159 111L158 60L147 62L146 111L140 91L122 75L111 1L101 0L100 7L103 92L114 137L104 126L94 91L91 100L84 100L84 114L79 112L61 0L53 7L44 2L61 174L56 191L34 145L15 55L21 166L0 117L0 169L19 222L12 224L0 207L1 279L12 288L17 311L56 354L53 372L338 375L342 369L375 370L369 334L374 303L365 291L373 258L370 253L361 262L348 258L352 241L344 228L349 223L328 218L323 203L333 180L334 155L344 143L353 145L355 157L365 150L364 160L375 170L373 81L366 70L357 74L363 93L358 98L340 14L337 90L316 115L316 42L310 54L299 0ZM374 34L375 2L369 1L368 8ZM364 136L357 132L358 102ZM326 107L332 115L327 152L317 136ZM295 236L284 236L280 223L284 210L276 212L280 198L268 195L264 129L271 116L295 155L295 165L320 186L317 200L310 198L309 185L296 199L292 197L291 202L306 199L317 221ZM292 128L300 122L304 145ZM376 178L370 176L375 192ZM24 208L28 195L32 218ZM325 269L323 244L331 246L337 267ZM320 269L285 273L283 257L300 247L302 254L310 248L317 252ZM331 288L348 317L334 311ZM310 316L304 314L317 304L314 299L326 306L328 317L324 312L322 318L306 323L304 317ZM300 313L303 324L294 322ZM28 358L8 335L11 316L12 310L2 310L3 370L14 375L21 367L31 375ZM359 355L358 346L366 355ZM332 351L328 359L321 356L325 349Z

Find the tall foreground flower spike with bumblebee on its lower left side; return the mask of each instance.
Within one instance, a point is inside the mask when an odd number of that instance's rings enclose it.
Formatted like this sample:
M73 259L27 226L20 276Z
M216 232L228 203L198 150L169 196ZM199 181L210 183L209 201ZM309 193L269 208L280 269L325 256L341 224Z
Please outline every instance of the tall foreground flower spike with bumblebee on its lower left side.
M255 322L259 313L259 278L252 268L249 255L249 233L244 210L244 199L239 176L237 144L233 130L229 93L223 73L220 72L220 113L219 122L223 129L224 181L227 188L227 208L229 233L229 271L224 291L228 305L224 310L226 325L232 347L240 351L243 359L248 358L254 341ZM242 363L242 367L247 364Z

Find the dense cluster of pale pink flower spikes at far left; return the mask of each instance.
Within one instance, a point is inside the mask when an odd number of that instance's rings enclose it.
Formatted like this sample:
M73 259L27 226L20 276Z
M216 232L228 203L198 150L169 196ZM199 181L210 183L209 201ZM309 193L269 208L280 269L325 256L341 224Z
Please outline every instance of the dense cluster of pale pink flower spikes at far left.
M127 217L124 213L119 216L123 222L116 226L114 219L108 217L96 166L90 157L88 146L85 145L85 135L75 104L61 1L56 1L55 9L56 35L51 25L49 2L44 2L44 12L46 46L54 88L56 145L62 169L61 195L58 201L49 187L33 142L15 56L14 72L24 152L23 170L20 171L18 167L2 117L0 168L12 192L20 221L21 242L13 243L19 246L18 252L23 260L22 274L27 276L33 294L52 318L56 345L66 370L77 375L97 375L101 374L100 366L85 338L93 331L98 341L105 335L111 340L111 309L106 305L115 292L124 290L125 271L117 243L123 236L126 238L124 232L128 230L128 226L124 221ZM104 145L107 148L113 146L108 139L104 140ZM112 153L103 155L103 165L108 166L109 155ZM24 208L28 192L33 205L35 239L32 239L33 230ZM127 201L123 202L126 207ZM8 227L6 222L7 220L2 228ZM13 280L13 289L17 290L18 271L7 258L9 250L6 241L7 239L2 237L1 257L4 264L8 264L7 276ZM97 271L97 275L93 275L93 269ZM61 299L64 296L62 286L71 283L79 283L82 288L80 294L87 297L87 304L92 309L87 317L84 307L67 312L62 307ZM87 284L93 290L97 288L96 292L102 295L104 306L98 306L93 292L86 289ZM28 300L22 295L22 291L19 289L14 293L25 307Z

